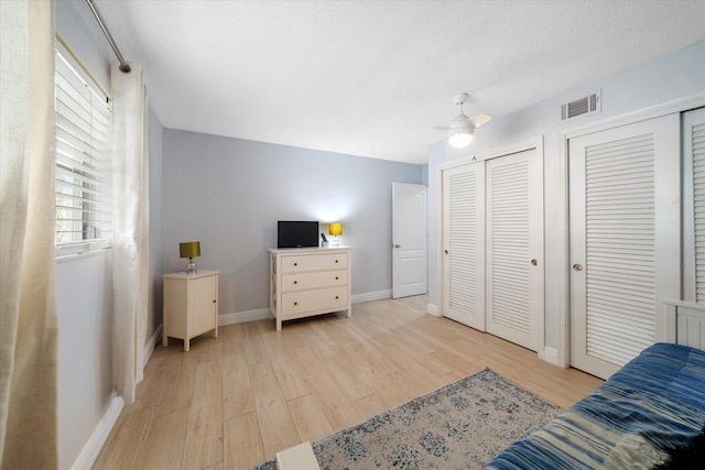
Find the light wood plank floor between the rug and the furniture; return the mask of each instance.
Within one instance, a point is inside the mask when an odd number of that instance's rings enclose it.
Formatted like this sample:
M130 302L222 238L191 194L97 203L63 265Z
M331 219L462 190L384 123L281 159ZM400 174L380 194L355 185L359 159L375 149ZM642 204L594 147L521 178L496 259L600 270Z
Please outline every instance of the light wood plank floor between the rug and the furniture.
M95 469L246 469L489 367L567 407L601 380L446 318L426 297L230 325L159 346Z

